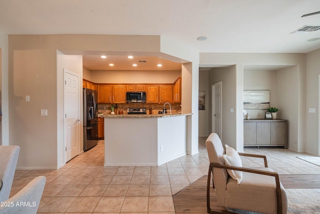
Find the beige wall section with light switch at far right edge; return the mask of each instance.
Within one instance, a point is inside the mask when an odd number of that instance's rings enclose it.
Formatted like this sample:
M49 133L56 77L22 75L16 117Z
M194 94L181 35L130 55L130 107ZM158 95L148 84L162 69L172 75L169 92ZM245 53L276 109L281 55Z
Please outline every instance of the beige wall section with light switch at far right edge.
M306 101L305 101L305 150L320 156L319 144L319 75L320 49L306 54ZM308 108L315 108L315 113L308 113Z

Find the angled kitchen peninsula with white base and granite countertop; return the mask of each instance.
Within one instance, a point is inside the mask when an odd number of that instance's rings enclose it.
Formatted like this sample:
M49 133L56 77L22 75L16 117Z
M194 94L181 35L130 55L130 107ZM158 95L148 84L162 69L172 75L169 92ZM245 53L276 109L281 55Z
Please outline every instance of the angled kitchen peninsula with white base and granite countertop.
M190 115L102 115L104 166L156 166L185 155Z

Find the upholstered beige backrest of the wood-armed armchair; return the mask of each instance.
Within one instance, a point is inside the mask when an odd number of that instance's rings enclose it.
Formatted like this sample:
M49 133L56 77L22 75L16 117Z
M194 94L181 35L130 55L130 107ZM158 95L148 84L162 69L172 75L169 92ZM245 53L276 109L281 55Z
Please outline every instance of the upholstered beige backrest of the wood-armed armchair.
M216 133L211 133L206 139L205 145L210 163L218 163L224 165L224 159L222 157L222 155L224 154L224 149L219 136ZM214 189L219 205L223 205L228 173L225 169L213 168L212 174Z

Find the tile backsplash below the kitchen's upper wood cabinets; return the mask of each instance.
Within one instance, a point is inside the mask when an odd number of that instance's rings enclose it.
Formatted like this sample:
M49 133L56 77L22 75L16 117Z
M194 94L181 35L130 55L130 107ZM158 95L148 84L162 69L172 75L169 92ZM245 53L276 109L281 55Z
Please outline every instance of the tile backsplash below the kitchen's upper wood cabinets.
M171 104L171 103L170 103ZM110 114L112 104L98 104L98 113ZM114 104L115 105L115 104ZM145 104L145 103L121 103L116 104L114 113L117 114L118 109L123 109L122 114L127 114L127 108L146 108L146 114L158 114L158 111L163 110L163 104ZM165 105L165 108L169 110L169 105ZM180 103L171 104L171 113L181 112Z

